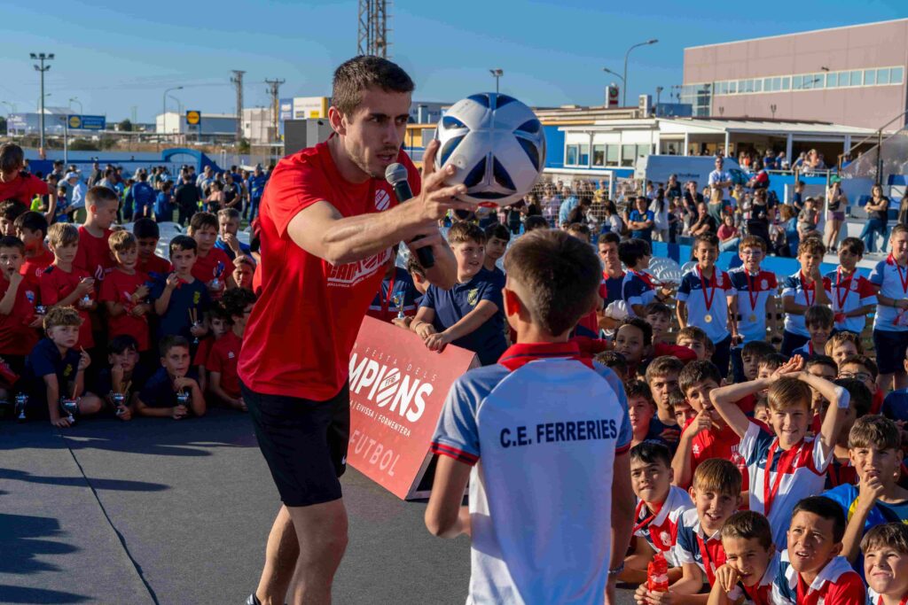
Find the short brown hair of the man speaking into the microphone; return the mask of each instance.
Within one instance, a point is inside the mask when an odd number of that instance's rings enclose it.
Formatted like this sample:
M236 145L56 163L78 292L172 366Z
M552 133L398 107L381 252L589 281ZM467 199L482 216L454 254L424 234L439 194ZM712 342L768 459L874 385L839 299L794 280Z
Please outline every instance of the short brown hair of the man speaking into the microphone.
M362 102L362 94L370 88L385 93L412 93L414 87L410 76L397 63L360 54L334 70L331 104L351 119Z

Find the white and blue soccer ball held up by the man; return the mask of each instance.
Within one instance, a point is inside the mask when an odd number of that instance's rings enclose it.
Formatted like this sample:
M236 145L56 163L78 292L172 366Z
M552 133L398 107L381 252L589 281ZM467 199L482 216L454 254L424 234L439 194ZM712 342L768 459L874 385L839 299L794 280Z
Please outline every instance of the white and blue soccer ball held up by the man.
M460 200L508 206L525 196L546 164L546 135L536 114L514 97L472 94L439 121L435 168L453 165L447 184L467 186Z

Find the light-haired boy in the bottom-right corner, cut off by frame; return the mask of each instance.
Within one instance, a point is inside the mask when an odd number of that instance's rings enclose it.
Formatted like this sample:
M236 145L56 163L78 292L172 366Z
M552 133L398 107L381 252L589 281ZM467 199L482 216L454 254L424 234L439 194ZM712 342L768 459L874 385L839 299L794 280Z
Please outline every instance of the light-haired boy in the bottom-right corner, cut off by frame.
M908 525L877 525L861 542L870 605L908 602Z

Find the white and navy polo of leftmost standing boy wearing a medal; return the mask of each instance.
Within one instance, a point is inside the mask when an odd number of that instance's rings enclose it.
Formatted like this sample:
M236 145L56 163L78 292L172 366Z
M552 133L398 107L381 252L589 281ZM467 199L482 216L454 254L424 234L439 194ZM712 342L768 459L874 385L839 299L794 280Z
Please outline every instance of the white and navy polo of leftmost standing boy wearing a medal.
M707 279L700 273L700 268L695 267L681 278L676 298L687 305L687 325L701 328L710 340L717 343L730 336L728 296L731 292L732 280L725 271L714 267L712 278ZM706 321L706 316L709 316L709 321Z

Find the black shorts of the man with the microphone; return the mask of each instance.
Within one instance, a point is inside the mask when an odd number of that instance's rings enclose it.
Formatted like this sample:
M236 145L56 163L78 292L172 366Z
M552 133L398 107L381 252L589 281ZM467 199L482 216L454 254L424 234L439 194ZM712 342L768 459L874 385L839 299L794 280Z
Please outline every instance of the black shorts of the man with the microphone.
M328 401L262 395L242 385L255 436L286 506L341 498L338 477L347 468L350 386Z

